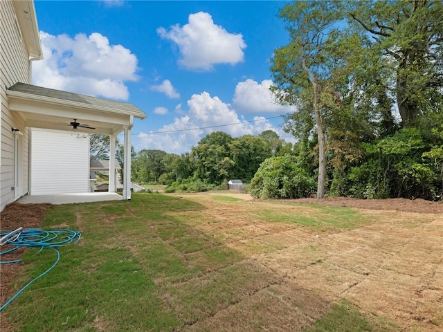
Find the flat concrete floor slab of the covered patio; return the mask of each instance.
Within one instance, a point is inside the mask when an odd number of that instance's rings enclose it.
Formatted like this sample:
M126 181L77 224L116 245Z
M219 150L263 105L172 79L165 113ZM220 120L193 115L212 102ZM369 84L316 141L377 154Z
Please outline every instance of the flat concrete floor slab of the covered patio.
M116 192L84 192L79 194L55 194L55 195L35 195L23 196L17 202L21 204L51 203L89 203L101 201L123 201L123 196Z

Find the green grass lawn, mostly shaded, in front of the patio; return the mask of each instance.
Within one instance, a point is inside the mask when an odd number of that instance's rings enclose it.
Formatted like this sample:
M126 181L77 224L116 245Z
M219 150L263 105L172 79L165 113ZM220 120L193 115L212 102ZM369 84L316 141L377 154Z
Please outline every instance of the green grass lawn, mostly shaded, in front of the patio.
M241 204L223 196L214 199L226 206ZM244 331L284 331L272 326L266 330L266 324L276 315L281 315L281 324L289 313L310 304L279 302L281 312L271 315L264 299L280 298L273 289L282 280L227 246L217 232L193 227L211 222L201 214L205 209L186 196L143 193L134 193L130 202L53 205L43 228L66 224L80 230L82 239L61 248L60 263L2 315L17 331L233 331L226 326L235 326L236 320L248 326ZM310 219L269 210L256 213L260 221L314 229L349 229L358 219L354 210L343 208L314 207ZM16 289L55 260L51 250L34 254L28 250L27 268L12 285ZM214 330L215 323L201 324L250 300L244 309L248 313L242 313L251 317L248 324L236 315L219 329ZM322 310L317 322L304 330L382 331L345 302L325 304Z

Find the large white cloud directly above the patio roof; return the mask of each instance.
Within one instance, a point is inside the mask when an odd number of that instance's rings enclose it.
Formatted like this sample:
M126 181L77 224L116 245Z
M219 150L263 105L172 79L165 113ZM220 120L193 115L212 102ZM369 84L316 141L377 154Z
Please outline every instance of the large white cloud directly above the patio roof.
M127 100L125 81L138 77L137 57L100 33L53 36L40 32L44 59L33 63L33 84Z

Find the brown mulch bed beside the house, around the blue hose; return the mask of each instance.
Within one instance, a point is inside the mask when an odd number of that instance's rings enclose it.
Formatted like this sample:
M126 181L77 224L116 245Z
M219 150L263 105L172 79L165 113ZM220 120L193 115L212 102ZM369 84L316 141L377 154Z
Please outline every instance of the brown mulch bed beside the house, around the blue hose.
M23 228L41 228L43 215L51 207L51 204L19 204L11 203L6 205L5 210L1 212L0 229L1 230L17 230ZM9 250L12 246L6 244L1 247L1 252ZM19 248L6 255L1 255L1 261L12 261L20 259L25 248ZM2 264L0 269L0 304L4 304L11 294L8 294L8 287L15 275L24 268L23 263ZM9 296L8 296L9 295ZM3 325L3 322L2 322Z

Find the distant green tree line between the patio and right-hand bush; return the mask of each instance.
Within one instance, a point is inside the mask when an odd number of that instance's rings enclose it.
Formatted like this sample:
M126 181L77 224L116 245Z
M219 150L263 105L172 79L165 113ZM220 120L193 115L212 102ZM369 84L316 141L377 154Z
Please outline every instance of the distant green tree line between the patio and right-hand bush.
M132 158L132 181L163 183L186 188L219 187L229 179L250 182L260 164L271 156L292 151L291 143L271 130L258 136L233 138L215 131L202 138L189 153L168 154L158 149L143 149ZM196 185L198 184L198 185Z

